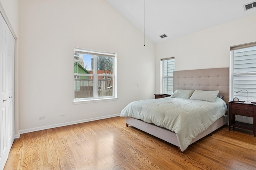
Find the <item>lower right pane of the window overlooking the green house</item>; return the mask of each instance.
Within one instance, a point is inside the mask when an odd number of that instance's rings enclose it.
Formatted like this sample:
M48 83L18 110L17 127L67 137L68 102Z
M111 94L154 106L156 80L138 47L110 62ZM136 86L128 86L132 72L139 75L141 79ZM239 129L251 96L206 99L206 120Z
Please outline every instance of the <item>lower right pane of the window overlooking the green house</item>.
M113 77L98 76L98 96L107 97L113 96Z

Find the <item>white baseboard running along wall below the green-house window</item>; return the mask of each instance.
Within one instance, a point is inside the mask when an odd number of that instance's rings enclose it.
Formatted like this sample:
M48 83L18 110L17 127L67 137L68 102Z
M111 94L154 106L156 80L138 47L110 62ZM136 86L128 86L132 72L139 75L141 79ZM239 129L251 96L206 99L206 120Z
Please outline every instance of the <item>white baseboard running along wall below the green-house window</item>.
M54 125L35 127L35 128L31 128L31 129L24 129L24 130L20 130L18 132L18 134L15 135L15 139L20 138L20 134L23 134L23 133L41 131L41 130L51 129L51 128L55 128L55 127L74 125L74 124L78 124L78 123L84 123L84 122L88 122L88 121L107 119L107 118L110 118L110 117L117 117L117 116L120 116L120 113L119 114L114 114L114 115L102 116L102 117L94 117L94 118L91 118L91 119L83 119L83 120L79 120L79 121L70 121L70 122L58 123L58 124L54 124Z

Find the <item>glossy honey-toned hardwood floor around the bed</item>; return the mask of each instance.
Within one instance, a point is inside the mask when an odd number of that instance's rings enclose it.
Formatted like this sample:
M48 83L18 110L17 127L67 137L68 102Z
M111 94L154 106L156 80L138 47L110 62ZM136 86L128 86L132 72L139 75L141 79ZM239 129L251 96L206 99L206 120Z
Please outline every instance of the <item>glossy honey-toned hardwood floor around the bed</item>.
M20 135L4 170L256 169L252 131L221 127L190 145L178 147L126 127L113 117Z

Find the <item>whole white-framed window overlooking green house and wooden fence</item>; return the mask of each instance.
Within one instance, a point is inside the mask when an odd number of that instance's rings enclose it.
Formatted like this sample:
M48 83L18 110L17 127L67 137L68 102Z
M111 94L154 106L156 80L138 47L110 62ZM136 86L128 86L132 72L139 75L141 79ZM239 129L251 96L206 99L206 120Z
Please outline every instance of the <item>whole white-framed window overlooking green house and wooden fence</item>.
M74 48L74 101L116 98L116 54Z

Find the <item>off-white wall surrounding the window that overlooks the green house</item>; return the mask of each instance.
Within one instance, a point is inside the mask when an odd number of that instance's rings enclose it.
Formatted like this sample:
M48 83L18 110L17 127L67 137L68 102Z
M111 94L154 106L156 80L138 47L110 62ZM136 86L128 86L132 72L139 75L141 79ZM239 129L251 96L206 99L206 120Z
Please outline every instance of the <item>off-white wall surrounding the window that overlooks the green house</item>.
M154 98L154 43L144 47L144 35L104 0L22 0L19 10L20 133L111 117ZM118 100L73 104L74 47L117 53Z

